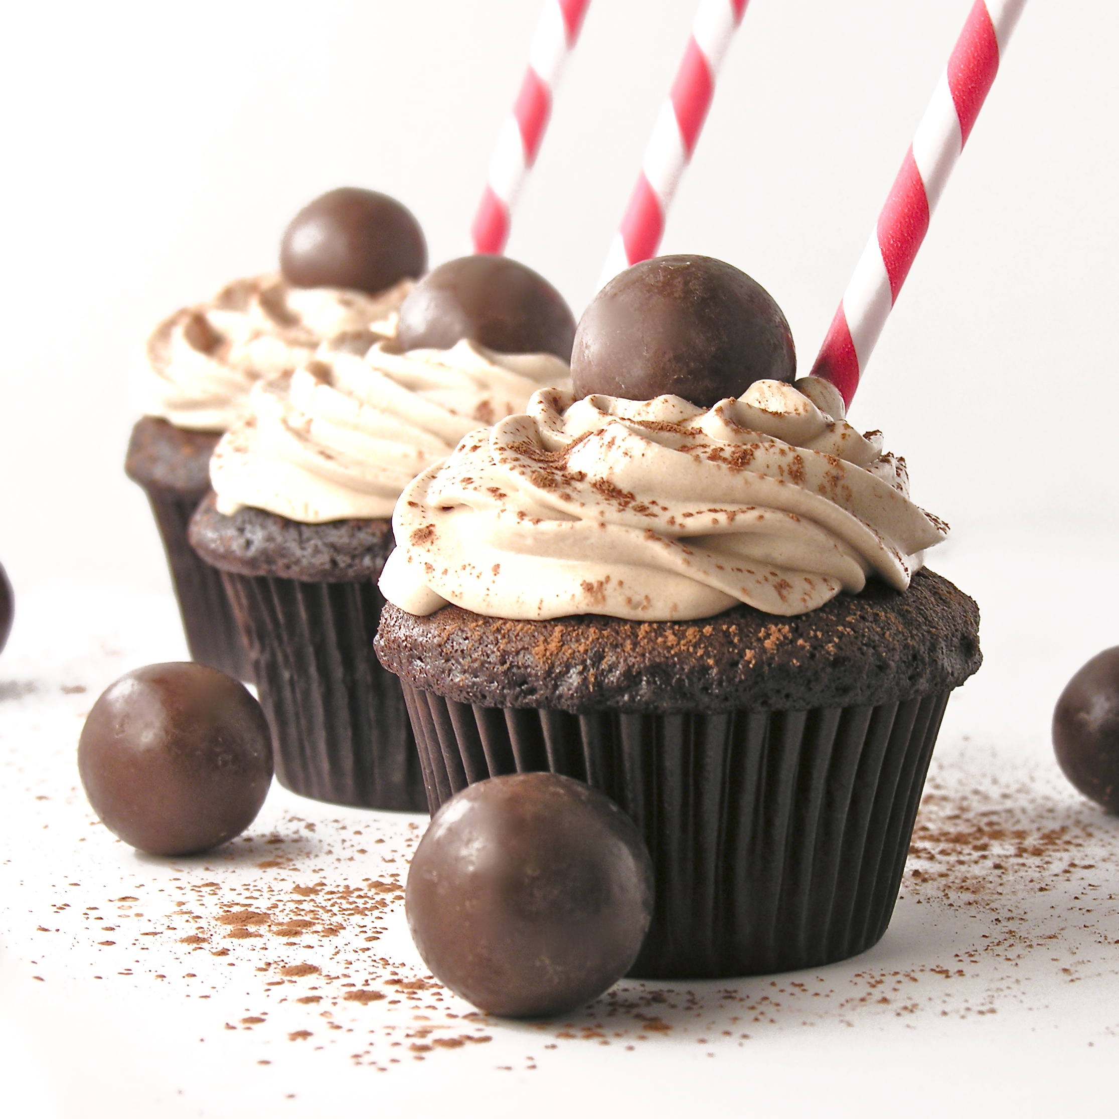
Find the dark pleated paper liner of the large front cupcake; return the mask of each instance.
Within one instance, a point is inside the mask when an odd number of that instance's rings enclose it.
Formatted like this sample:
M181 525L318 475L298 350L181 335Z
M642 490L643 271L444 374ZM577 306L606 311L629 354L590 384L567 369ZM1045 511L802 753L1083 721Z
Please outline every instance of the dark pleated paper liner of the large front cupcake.
M948 692L874 707L572 715L404 685L434 812L467 784L551 770L617 801L657 894L632 976L764 975L886 931Z

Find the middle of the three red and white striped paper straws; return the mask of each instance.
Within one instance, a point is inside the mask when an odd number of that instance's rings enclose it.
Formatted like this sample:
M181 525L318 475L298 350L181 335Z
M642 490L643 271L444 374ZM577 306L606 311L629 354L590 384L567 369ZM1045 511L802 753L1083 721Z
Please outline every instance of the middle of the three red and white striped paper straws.
M711 109L715 76L747 2L702 0L673 88L646 149L637 186L606 257L600 288L623 269L656 255L665 233L665 216Z

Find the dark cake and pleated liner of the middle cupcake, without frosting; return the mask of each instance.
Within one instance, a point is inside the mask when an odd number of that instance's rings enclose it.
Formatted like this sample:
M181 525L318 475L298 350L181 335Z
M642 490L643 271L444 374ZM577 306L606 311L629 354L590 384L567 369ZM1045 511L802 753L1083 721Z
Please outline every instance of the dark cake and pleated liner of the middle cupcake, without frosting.
M401 689L370 656L388 521L229 517L216 502L203 500L190 539L243 628L281 783L331 803L424 808Z

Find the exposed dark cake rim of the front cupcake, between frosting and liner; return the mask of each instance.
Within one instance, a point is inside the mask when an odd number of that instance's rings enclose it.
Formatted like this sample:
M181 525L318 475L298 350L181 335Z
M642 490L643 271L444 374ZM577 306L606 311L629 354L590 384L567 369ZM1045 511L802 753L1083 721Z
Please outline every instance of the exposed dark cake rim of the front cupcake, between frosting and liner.
M739 605L711 621L483 618L382 611L376 650L423 692L568 712L808 711L944 692L981 662L979 610L948 580L880 582L796 618Z

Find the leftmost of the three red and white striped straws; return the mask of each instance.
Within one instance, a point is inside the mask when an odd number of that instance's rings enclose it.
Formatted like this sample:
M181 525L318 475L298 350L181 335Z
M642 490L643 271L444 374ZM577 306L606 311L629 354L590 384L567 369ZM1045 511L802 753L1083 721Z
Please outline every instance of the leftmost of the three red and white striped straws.
M513 208L536 162L552 115L552 97L575 47L591 0L545 0L520 92L490 160L482 200L470 227L476 253L500 254L509 239Z

